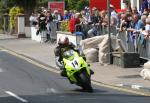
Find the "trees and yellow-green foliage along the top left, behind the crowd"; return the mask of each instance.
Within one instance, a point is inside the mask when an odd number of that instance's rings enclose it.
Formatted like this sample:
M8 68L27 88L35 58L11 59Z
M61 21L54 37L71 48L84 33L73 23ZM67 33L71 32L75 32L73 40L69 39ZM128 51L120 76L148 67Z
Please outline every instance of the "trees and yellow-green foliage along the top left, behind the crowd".
M65 9L78 11L83 9L85 6L88 6L89 2L89 0L0 0L0 15L9 13L11 16L10 25L15 26L16 14L22 11L16 10L14 6L24 8L26 15L30 15L31 12L34 11L35 7L47 7L48 1L65 1ZM2 23L0 23L0 27L2 27L1 25Z

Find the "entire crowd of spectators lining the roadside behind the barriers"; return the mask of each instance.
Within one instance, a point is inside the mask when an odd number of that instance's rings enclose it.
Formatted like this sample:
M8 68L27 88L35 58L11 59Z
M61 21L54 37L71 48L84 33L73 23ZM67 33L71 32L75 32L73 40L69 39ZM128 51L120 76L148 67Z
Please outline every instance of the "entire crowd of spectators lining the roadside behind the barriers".
M138 12L136 7L116 11L115 7L110 5L110 12L110 26L116 27L119 32L129 31L130 40L137 34L143 34L144 38L150 37L150 11L148 6L142 6L141 12ZM41 13L32 13L29 20L31 26L38 25L37 35L41 30L48 30L48 35L50 35L50 22L69 21L69 31L71 33L83 32L85 38L88 38L100 35L97 32L97 27L107 27L108 12L107 10L99 10L96 7L93 7L90 11L88 7L85 7L80 12L65 10L62 16L58 10L51 12L49 9L41 8Z

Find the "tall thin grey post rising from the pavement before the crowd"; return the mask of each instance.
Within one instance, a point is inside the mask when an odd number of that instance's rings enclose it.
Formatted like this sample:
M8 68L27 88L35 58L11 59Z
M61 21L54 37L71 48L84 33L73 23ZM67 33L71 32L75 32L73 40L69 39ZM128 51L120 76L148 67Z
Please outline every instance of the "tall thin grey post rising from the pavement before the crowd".
M108 40L109 40L109 63L113 63L112 48L111 48L111 34L110 34L110 0L107 0L107 10L108 10Z

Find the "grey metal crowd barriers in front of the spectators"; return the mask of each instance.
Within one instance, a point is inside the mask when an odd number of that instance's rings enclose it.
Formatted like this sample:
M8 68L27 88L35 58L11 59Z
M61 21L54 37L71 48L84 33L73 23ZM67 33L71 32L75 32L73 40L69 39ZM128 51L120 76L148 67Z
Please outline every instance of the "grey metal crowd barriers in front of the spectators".
M59 24L56 24L56 22L51 23L51 36L52 38L57 38L57 33L56 31L60 30ZM58 25L58 26L57 26ZM81 24L82 26L82 32L87 33L90 28L92 28L92 25L86 25L86 24ZM96 25L97 28L97 35L105 35L108 34L108 27L107 26L101 26L101 25ZM150 59L150 38L144 39L140 38L140 35L135 35L134 41L131 42L129 41L129 35L128 31L118 31L116 27L112 27L110 29L110 33L115 35L118 39L121 39L127 52L137 52L140 54L140 57ZM87 34L86 34L87 35ZM143 40L143 41L142 41Z

